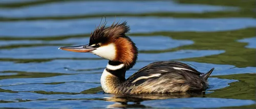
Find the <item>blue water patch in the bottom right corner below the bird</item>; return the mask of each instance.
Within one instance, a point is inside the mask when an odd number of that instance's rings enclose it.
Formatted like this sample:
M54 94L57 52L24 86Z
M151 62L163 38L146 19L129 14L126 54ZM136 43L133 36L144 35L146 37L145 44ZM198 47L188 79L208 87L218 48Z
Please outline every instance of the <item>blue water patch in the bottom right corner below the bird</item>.
M181 108L181 107L214 108L214 107L224 107L224 106L250 105L254 103L255 102L252 100L221 99L221 98L180 98L180 99L166 99L166 100L142 102L142 104L147 106L169 107L169 108Z

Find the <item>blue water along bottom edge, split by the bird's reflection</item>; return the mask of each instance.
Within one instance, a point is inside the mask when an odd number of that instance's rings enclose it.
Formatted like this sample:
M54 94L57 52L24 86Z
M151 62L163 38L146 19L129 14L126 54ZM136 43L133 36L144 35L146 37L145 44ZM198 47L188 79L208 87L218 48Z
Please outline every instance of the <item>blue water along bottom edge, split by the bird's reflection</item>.
M198 100L200 99L200 101ZM205 102L211 101L210 104L205 104ZM237 99L213 99L213 98L180 98L180 99L167 99L167 100L154 100L145 101L142 104L151 107L170 107L170 108L180 108L180 107L220 107L227 105L240 106L252 104L254 101L251 100L237 100ZM216 105L218 104L218 105ZM1 104L0 104L1 105ZM96 107L115 107L114 102L98 101L95 100L94 103L89 100L63 100L63 101L31 101L24 103L8 103L1 106L6 107L27 107L27 108L96 108ZM158 106L156 106L158 105ZM189 105L189 106L188 106Z

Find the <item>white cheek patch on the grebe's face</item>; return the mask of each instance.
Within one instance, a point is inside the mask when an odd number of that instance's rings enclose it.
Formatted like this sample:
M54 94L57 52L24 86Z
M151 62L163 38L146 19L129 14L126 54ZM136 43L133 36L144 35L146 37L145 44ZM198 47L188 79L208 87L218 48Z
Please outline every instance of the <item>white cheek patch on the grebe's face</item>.
M116 57L116 47L114 43L110 43L109 45L102 46L91 51L91 53L108 60L114 60Z

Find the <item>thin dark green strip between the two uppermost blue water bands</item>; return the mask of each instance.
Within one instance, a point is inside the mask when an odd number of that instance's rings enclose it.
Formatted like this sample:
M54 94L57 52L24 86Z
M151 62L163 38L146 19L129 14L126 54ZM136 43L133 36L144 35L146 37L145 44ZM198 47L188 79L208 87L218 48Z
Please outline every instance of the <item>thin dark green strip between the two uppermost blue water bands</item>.
M72 16L46 16L46 17L0 17L0 21L20 21L20 20L66 20L66 19L81 19L81 18L95 18L95 17L189 17L189 18L216 18L216 17L255 17L255 15L247 10L242 11L218 11L218 12L205 12L205 13L175 13L175 12L153 12L153 13L141 13L141 14L129 14L129 13L106 13L106 14L86 14L86 15L72 15Z

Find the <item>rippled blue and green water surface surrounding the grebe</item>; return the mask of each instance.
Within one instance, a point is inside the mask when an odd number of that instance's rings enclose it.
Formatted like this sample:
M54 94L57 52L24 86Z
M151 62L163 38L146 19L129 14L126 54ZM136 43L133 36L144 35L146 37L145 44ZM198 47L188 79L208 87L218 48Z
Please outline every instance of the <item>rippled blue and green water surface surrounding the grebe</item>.
M36 0L12 0L0 4L30 2L37 3ZM246 90L251 91L250 86L255 86L246 82L253 81L247 74L256 73L256 66L252 64L256 38L249 31L256 27L255 18L139 16L150 12L203 14L238 10L243 9L174 1L67 1L1 7L0 17L3 18L39 19L0 21L0 107L216 108L254 104L254 98L244 97L241 90L248 86ZM108 26L113 21L126 20L132 29L129 36L140 50L138 62L127 71L126 78L151 62L176 60L192 64L200 72L215 68L208 79L210 88L203 93L183 95L104 94L100 76L108 60L89 53L58 50L61 46L88 43L88 36L101 17L40 19L109 13L138 15L106 17ZM236 79L239 77L243 80ZM225 96L229 94L234 95ZM121 104L121 101L131 102Z

